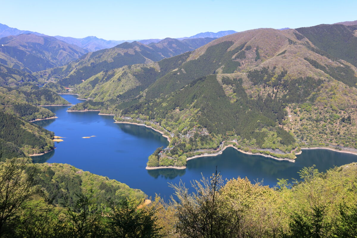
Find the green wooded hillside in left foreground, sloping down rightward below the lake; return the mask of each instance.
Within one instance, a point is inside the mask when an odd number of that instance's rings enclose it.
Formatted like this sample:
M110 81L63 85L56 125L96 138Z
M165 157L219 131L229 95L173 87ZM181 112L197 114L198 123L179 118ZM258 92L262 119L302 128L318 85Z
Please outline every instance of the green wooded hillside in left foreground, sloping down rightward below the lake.
M127 227L114 224L120 212L130 229L145 223L145 233L155 221L153 212L136 211L146 197L139 189L69 164L11 159L0 163L0 181L1 237L113 237Z

